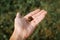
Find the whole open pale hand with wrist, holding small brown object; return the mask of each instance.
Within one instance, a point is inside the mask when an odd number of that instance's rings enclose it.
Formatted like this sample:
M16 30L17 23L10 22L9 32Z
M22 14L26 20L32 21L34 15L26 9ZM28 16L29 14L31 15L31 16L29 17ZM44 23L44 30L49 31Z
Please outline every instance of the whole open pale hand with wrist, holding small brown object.
M45 10L36 9L24 17L19 12L16 14L14 21L14 32L10 40L25 40L36 29L36 26L44 19L47 12Z

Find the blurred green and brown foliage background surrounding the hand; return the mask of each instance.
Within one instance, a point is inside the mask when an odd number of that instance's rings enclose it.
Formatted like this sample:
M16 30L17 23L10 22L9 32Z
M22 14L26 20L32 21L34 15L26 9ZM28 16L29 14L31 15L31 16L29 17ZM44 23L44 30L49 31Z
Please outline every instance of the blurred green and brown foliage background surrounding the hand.
M24 16L37 8L48 14L27 40L60 40L60 0L0 0L0 40L9 40L17 11Z

